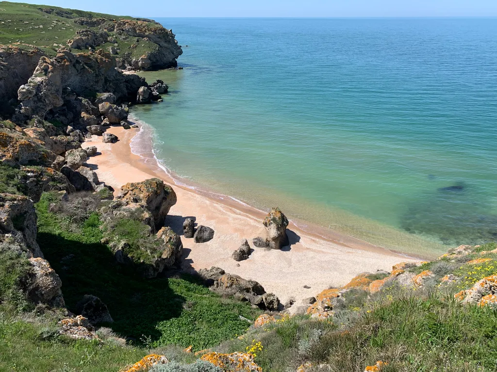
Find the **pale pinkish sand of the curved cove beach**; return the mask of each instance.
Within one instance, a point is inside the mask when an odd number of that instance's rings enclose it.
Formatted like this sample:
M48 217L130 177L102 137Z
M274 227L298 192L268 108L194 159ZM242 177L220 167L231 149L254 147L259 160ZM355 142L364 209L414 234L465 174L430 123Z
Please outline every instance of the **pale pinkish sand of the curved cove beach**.
M226 272L258 281L267 292L276 294L282 303L293 297L296 300L295 309L304 298L316 296L332 286L342 286L361 272L390 271L393 264L411 260L354 238L331 233L330 239L327 239L310 234L292 223L289 238L293 244L289 249L255 248L251 240L263 232L264 214L261 211L175 185L157 162L151 162L149 158L146 164L145 158L131 152L131 139L139 129L110 127L107 132L117 135L119 141L115 144L102 143L102 137L93 136L91 141L83 143L83 147L96 146L101 153L90 158L88 165L95 169L100 182L114 187L116 193L120 186L128 182L140 182L152 177L173 186L177 203L171 208L166 225L181 235L185 269L219 266ZM193 217L198 225L213 228L214 239L204 244L185 239L182 223L186 217ZM231 254L244 238L254 250L248 260L237 262ZM305 289L304 285L311 288Z

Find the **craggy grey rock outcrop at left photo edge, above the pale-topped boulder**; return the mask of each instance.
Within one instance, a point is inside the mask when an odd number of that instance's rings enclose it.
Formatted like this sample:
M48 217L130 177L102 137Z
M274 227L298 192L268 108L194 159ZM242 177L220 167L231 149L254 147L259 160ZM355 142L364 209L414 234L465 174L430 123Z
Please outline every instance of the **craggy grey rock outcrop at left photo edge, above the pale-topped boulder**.
M36 218L28 197L0 194L0 241L19 245L31 257L43 258L36 243Z

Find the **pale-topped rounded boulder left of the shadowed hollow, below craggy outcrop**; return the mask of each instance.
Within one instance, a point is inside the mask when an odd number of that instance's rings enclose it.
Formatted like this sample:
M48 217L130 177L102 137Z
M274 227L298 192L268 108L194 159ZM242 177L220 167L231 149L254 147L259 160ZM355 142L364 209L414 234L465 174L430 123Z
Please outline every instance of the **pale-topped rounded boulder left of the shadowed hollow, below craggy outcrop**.
M42 303L56 308L64 308L62 296L62 281L59 275L50 266L50 263L41 257L29 258L32 266L33 280L28 291L28 297L35 304Z

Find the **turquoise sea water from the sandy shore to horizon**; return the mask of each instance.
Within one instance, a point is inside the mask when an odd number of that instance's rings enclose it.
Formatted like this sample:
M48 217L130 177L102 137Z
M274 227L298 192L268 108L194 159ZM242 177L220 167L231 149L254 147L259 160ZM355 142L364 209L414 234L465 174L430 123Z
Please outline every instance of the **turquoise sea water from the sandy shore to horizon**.
M158 20L184 69L133 113L178 177L388 248L497 240L496 19Z

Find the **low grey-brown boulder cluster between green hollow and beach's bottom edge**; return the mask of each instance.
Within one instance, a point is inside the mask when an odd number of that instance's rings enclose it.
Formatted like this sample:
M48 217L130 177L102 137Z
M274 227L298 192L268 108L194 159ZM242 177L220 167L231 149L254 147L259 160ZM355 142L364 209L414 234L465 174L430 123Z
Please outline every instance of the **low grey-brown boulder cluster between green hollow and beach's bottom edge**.
M282 310L279 299L254 280L247 280L238 275L226 273L219 267L201 269L198 275L204 283L216 293L233 296L239 301L249 302L263 310Z

